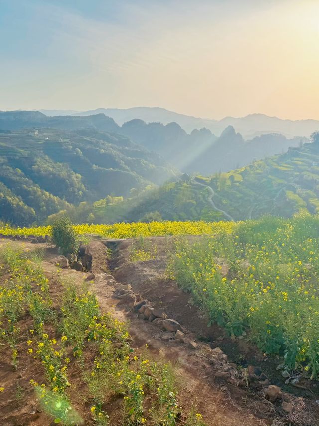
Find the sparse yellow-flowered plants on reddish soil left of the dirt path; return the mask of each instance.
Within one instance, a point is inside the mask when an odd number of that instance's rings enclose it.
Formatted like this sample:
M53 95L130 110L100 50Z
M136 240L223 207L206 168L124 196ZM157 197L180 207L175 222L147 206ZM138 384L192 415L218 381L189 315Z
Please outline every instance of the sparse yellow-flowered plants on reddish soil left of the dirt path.
M31 395L45 416L36 424L179 424L183 410L172 367L154 360L147 347L131 348L126 325L101 313L89 284L62 279L59 270L51 282L39 260L10 246L0 251L1 356L4 362L9 355L4 365L11 372L23 369L24 381L17 387L6 370L3 401L14 392L23 408ZM54 298L52 285L59 289ZM194 408L187 412L184 425L205 426Z

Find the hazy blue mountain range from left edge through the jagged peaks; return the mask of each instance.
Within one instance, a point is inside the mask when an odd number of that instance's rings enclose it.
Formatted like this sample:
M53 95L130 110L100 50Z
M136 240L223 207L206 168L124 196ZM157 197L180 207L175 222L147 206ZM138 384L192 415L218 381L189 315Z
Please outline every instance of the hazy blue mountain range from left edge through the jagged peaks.
M206 128L187 134L176 122L147 124L140 119L125 122L119 127L112 118L102 113L85 117L47 117L35 111L0 112L0 129L22 128L93 129L122 134L160 154L182 172L205 175L243 167L253 160L280 154L289 146L299 146L307 141L301 137L287 139L281 134L244 140L232 126L226 127L219 138Z

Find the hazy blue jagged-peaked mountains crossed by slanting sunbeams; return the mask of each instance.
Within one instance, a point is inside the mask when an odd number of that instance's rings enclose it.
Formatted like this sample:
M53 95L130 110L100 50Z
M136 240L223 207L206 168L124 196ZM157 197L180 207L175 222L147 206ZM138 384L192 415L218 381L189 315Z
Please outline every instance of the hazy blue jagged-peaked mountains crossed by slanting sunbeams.
M138 119L124 123L120 132L157 152L182 172L203 175L243 167L308 141L301 137L287 139L281 134L244 140L232 126L228 126L219 137L205 128L187 134L177 123L146 124Z

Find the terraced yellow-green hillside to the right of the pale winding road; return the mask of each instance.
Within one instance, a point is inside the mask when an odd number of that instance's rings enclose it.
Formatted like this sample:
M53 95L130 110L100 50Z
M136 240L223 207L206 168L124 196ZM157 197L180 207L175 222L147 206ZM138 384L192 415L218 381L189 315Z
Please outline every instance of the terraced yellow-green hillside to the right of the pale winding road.
M235 220L266 214L289 217L301 210L318 213L319 134L313 143L196 181L211 187L216 207Z

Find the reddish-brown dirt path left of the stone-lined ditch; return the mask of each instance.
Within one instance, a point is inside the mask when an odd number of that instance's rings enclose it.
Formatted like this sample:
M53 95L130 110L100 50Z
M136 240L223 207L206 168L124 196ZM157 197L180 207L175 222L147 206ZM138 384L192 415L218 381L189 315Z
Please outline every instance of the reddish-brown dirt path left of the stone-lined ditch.
M196 351L181 346L172 346L156 339L159 329L148 321L141 321L136 314L128 311L117 299L112 298L113 288L106 286L103 273L107 271L105 249L100 242L90 244L93 255L93 272L96 279L92 290L97 295L101 308L111 311L120 320L129 320L129 332L132 346L143 348L148 344L155 356L165 357L177 366L181 389L179 399L183 406L195 404L203 414L208 425L214 426L258 426L266 425L264 420L256 418L248 410L237 406L236 401L227 390L212 385L207 376L207 361L199 357ZM143 297L143 295L142 295Z

